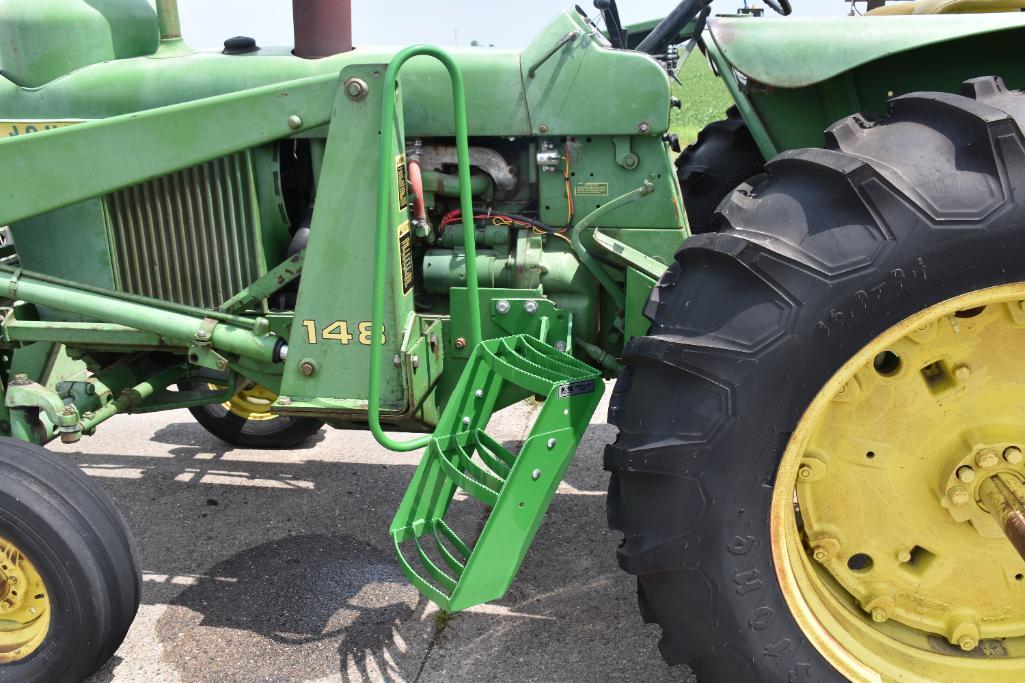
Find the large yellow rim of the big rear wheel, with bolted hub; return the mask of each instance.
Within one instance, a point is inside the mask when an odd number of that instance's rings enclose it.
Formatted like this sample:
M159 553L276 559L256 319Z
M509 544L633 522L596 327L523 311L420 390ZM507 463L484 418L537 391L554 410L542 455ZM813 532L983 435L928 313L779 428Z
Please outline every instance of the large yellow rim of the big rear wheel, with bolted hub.
M1025 560L982 485L1025 482L1023 348L1025 284L949 299L848 361L791 436L773 559L848 678L1022 680Z

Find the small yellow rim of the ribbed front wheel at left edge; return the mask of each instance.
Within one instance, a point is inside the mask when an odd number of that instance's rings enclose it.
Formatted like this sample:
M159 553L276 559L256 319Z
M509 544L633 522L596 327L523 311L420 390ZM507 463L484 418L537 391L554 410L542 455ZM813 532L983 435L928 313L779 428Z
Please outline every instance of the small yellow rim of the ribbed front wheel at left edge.
M42 576L14 544L0 538L0 664L35 652L49 627L50 600Z

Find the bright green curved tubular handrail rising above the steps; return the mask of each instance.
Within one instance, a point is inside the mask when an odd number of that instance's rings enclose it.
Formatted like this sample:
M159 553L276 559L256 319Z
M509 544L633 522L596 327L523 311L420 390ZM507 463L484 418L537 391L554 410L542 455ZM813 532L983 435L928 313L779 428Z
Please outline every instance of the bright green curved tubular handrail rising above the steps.
M391 236L388 216L394 198L391 173L387 172L392 157L392 142L395 138L395 88L399 70L414 56L430 56L443 65L452 79L452 109L455 111L455 148L459 166L459 206L462 209L463 250L466 263L466 292L469 296L469 343L470 349L481 342L481 305L477 282L477 245L474 242L474 202L469 190L469 143L466 125L466 95L459 66L444 50L430 45L413 45L400 50L388 64L383 79L383 101L381 103L380 152L378 154L377 177L377 237L374 244L374 279L371 304L372 329L381 330L384 325L384 288L387 283L387 245ZM381 338L383 335L381 335ZM370 345L370 396L367 421L377 443L389 450L410 451L423 448L430 442L430 435L397 441L384 434L380 420L381 398L381 353L383 342L375 339Z

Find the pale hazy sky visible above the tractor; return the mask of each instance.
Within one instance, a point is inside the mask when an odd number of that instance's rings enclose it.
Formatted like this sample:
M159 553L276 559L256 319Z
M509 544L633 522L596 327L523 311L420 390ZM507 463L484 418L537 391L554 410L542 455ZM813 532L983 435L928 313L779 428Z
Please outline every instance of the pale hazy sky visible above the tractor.
M563 9L592 10L589 0L353 0L356 44L523 47ZM623 23L664 16L678 0L618 0ZM733 11L743 0L716 0L713 10ZM761 4L751 2L751 4ZM791 0L795 16L842 16L848 0ZM225 38L251 36L259 45L292 44L289 0L178 0L181 32L193 47L219 47ZM863 7L863 5L862 5ZM767 14L773 14L771 9ZM593 14L592 14L593 15Z

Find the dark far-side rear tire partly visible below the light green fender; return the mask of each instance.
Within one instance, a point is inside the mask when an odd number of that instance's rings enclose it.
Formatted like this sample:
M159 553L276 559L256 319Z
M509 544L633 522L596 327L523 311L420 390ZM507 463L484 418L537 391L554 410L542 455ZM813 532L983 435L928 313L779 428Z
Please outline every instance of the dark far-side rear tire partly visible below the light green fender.
M736 107L705 126L676 159L691 233L719 230L715 209L738 185L762 172L763 164L765 157Z

